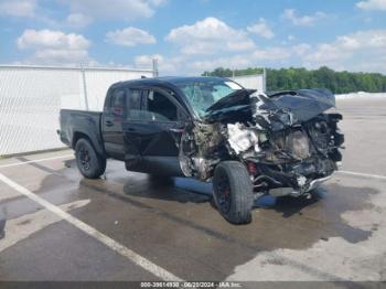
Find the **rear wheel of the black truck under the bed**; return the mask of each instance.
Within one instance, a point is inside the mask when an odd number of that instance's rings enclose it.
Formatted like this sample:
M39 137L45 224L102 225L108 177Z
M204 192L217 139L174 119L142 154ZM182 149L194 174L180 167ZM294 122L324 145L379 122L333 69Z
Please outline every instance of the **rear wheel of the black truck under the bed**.
M106 158L99 156L87 139L79 139L75 144L76 164L87 179L97 179L106 170Z

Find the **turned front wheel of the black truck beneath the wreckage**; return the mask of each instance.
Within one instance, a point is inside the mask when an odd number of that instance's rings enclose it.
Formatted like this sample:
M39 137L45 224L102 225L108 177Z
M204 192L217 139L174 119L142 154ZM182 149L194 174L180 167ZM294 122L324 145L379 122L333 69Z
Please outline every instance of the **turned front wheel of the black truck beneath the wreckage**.
M251 221L254 190L249 173L238 161L217 164L213 175L213 197L218 212L233 224Z

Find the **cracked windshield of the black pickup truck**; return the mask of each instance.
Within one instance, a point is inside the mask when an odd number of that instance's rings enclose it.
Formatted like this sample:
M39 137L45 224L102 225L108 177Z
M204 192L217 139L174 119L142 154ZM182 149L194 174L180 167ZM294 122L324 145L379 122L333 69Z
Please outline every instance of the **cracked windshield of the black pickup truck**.
M175 84L184 93L193 110L200 116L219 99L243 89L238 84L228 79L186 79Z

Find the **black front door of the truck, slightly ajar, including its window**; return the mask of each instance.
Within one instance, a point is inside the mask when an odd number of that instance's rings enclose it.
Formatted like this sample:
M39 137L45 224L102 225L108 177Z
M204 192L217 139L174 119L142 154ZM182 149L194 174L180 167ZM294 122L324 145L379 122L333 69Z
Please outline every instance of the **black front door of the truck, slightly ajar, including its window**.
M178 146L187 113L171 94L158 87L130 88L127 103L128 117L124 121L127 169L181 175Z

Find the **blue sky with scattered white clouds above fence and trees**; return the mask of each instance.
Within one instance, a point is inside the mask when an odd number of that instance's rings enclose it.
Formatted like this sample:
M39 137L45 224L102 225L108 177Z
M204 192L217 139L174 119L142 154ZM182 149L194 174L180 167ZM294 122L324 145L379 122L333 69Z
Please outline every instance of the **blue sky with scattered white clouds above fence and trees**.
M0 0L0 63L386 73L386 0Z

